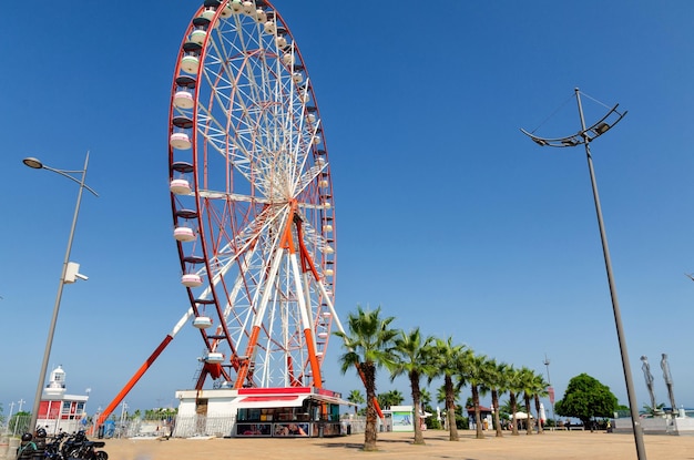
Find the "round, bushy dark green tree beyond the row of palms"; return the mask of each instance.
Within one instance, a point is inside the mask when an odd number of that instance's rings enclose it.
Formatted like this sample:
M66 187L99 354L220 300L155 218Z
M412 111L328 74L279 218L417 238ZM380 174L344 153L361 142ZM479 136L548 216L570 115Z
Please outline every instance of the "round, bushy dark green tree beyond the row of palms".
M554 411L562 417L581 419L588 427L594 417L612 417L616 407L618 400L610 387L581 374L569 381L564 397L554 405Z

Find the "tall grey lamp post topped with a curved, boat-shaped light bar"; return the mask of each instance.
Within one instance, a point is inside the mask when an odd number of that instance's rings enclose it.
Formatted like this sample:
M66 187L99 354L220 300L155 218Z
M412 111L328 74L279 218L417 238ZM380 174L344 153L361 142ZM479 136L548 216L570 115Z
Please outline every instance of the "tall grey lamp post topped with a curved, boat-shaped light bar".
M636 443L636 454L639 460L645 460L646 451L643 443L643 432L639 418L639 408L636 406L636 392L634 390L634 382L632 379L631 366L629 364L629 354L626 351L626 339L624 338L624 330L622 329L622 315L620 314L620 303L616 297L616 287L612 276L612 263L610 262L610 249L608 247L608 236L605 234L604 223L602 221L602 211L600 207L600 196L598 195L598 184L595 183L595 173L593 171L593 160L591 156L590 143L602 134L606 133L612 126L620 122L626 115L626 111L619 112L614 105L606 115L600 119L598 122L589 127L585 127L585 120L583 119L583 108L581 105L581 92L576 88L575 90L576 102L579 105L579 116L581 119L581 131L575 134L557 137L544 139L539 137L525 130L521 130L523 134L528 135L534 143L540 146L551 147L573 147L576 145L585 146L585 156L588 157L588 170L591 176L591 185L593 187L593 201L595 202L595 213L598 214L598 226L600 228L600 238L602 241L602 254L605 260L605 268L608 270L608 283L610 284L610 294L612 296L612 310L614 313L614 323L616 326L616 336L620 343L620 352L622 355L622 368L624 371L624 380L626 382L626 397L629 398L629 408L631 411L632 427L634 431L634 441Z

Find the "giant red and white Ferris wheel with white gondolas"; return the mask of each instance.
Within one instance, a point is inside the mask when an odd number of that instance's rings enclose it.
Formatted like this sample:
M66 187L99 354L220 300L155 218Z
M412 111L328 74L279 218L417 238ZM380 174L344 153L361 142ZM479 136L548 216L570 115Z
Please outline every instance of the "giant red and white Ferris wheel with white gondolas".
M205 0L169 130L173 236L204 343L196 388L320 388L339 327L330 167L307 68L269 1Z

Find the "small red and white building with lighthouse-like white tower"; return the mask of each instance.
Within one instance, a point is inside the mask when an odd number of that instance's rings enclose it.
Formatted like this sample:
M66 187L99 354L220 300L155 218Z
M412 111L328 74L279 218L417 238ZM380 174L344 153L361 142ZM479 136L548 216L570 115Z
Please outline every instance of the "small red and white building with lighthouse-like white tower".
M41 395L37 425L49 435L73 432L86 428L86 400L89 395L65 393L65 371L58 366L51 371L49 384Z

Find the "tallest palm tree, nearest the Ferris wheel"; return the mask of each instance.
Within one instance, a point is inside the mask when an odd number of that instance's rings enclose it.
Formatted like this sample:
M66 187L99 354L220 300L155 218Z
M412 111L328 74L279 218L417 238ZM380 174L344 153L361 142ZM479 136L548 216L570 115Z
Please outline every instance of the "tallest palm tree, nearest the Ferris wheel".
M376 450L376 369L392 362L392 340L397 331L390 328L395 318L381 318L380 307L365 311L357 306L357 311L347 316L349 333L337 331L345 340L347 351L340 356L343 374L356 367L366 389L366 428L364 450Z

